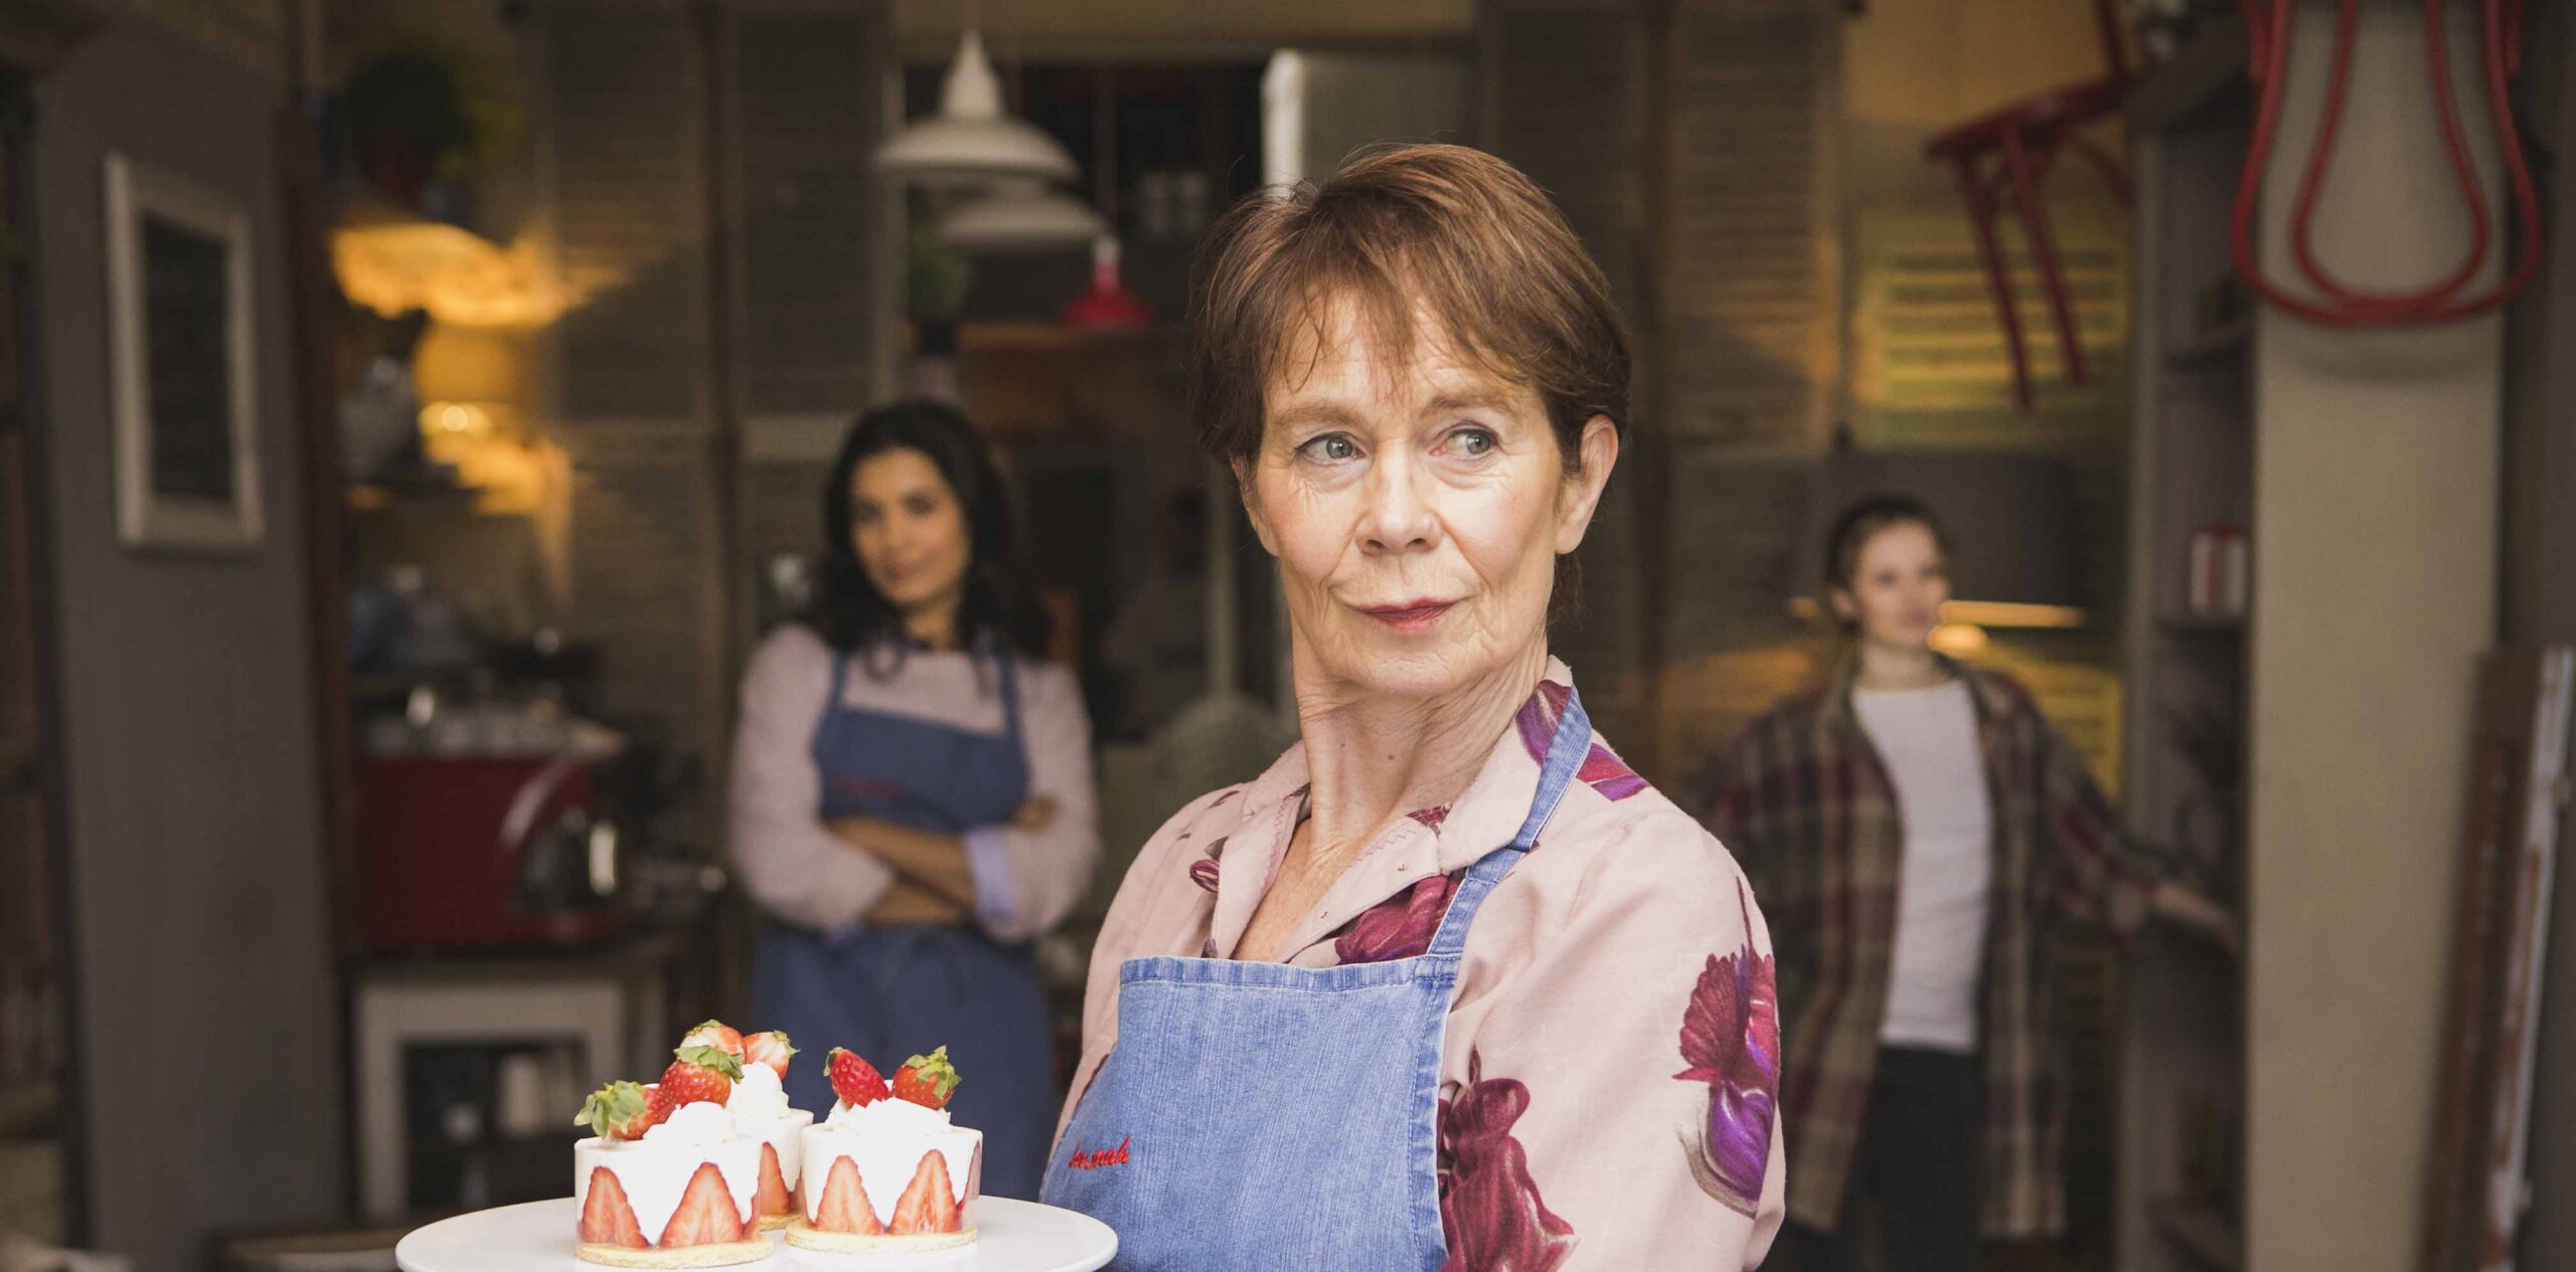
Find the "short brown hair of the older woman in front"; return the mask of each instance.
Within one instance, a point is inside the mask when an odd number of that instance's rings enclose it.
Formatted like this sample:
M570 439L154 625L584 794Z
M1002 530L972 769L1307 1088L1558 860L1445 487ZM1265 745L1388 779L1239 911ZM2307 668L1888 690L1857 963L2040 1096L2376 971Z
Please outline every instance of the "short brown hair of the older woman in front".
M1321 185L1262 191L1208 232L1190 288L1190 417L1211 456L1262 443L1262 391L1301 327L1358 304L1394 358L1414 348L1414 306L1458 358L1530 389L1574 469L1584 422L1628 425L1628 330L1610 283L1528 175L1468 147L1378 144Z

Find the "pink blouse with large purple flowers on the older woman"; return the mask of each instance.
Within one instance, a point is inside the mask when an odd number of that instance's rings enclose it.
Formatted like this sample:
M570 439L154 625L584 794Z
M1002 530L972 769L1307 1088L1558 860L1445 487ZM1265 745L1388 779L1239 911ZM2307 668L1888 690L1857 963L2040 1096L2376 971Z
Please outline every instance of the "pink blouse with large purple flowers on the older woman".
M1520 829L1566 685L1551 662L1458 803L1383 829L1298 924L1285 960L1422 953L1455 881ZM1293 747L1146 842L1092 953L1066 1118L1118 1043L1118 966L1234 958L1303 809L1306 752ZM1595 742L1538 847L1466 937L1440 1058L1448 1267L1759 1264L1785 1174L1770 950L1734 857Z

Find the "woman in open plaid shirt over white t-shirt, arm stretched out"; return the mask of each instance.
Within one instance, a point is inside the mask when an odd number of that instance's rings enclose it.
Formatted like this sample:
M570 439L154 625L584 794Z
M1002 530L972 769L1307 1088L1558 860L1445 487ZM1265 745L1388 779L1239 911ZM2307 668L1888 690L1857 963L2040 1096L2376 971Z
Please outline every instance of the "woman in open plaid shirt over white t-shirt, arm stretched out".
M1824 572L1824 687L1747 726L1705 801L1780 942L1783 1246L1795 1272L1857 1272L1868 1197L1891 1269L1965 1272L1981 1239L2066 1226L2050 927L2236 927L2120 842L2030 690L1932 649L1950 548L1929 507L1852 505Z

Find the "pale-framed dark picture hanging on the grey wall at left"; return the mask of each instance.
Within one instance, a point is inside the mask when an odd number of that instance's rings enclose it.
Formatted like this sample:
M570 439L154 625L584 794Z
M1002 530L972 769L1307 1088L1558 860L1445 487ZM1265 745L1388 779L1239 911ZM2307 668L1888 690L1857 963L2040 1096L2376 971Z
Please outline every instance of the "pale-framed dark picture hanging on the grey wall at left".
M113 152L106 183L118 538L258 546L250 214Z

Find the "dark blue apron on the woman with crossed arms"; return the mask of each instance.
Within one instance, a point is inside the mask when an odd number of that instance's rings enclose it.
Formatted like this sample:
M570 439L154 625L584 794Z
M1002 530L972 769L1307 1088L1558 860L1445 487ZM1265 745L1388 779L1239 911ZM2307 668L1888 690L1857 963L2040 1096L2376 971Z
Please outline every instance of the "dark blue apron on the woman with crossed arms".
M994 657L999 736L850 708L850 657L837 657L811 747L819 814L938 834L1010 821L1028 798L1028 754L1015 657ZM752 968L752 1020L796 1040L788 1099L817 1115L832 1107L822 1063L829 1048L850 1048L891 1079L907 1056L945 1045L963 1079L948 1112L984 1133L984 1192L1036 1195L1059 1097L1028 945L999 945L971 927L814 932L770 919Z

